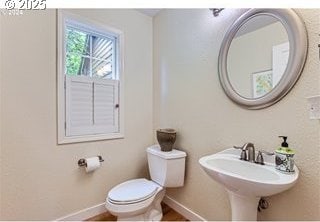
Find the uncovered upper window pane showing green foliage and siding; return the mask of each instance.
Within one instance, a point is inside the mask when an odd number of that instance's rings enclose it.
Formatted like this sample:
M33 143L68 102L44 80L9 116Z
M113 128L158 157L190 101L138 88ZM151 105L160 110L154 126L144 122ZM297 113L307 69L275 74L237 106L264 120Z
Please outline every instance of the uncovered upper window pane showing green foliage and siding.
M106 36L81 31L72 26L66 28L66 75L84 75L93 78L112 79L114 40Z

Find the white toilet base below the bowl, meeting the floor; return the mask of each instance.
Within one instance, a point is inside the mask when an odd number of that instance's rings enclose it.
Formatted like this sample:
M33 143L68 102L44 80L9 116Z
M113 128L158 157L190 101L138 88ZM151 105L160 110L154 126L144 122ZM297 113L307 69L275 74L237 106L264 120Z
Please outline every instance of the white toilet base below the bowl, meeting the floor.
M163 200L164 195L165 195L165 189L162 189L159 193L157 193L152 204L142 214L130 215L130 216L126 216L125 214L122 214L122 215L115 215L115 216L117 216L118 221L161 221L163 216L161 201Z

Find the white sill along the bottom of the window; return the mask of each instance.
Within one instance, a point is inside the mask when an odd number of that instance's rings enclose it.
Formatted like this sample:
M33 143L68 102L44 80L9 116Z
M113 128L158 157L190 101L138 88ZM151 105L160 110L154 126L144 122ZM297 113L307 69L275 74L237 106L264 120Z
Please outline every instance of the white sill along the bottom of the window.
M113 139L123 139L124 135L122 133L110 133L110 134L100 134L100 135L84 135L84 136L64 136L58 138L58 144L68 144L68 143L83 143L99 140L113 140Z

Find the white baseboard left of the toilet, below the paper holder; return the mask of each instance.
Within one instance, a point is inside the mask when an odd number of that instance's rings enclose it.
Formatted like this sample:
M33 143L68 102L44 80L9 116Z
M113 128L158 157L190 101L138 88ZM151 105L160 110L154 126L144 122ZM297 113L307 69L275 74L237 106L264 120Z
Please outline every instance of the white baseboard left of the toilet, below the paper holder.
M105 208L105 203L97 204L93 207L89 207L78 212L69 214L64 217L60 217L55 221L83 221L90 217L97 216L106 212L107 209Z

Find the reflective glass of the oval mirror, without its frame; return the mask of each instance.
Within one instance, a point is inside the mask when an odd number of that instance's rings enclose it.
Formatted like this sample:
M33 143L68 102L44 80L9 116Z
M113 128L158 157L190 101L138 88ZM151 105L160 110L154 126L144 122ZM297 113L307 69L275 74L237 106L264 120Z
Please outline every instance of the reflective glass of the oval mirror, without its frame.
M258 98L280 81L288 63L289 38L276 18L256 16L243 24L231 42L227 71L243 97Z

